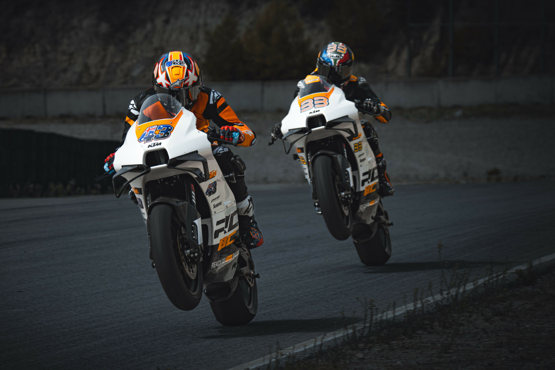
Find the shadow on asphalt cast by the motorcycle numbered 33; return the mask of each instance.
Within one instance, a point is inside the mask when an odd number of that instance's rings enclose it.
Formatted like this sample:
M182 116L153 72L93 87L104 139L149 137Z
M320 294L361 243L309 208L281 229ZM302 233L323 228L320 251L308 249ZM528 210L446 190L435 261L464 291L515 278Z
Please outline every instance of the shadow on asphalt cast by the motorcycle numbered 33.
M440 262L397 262L386 263L384 266L368 267L364 273L393 273L393 272L411 272L411 271L424 271L424 270L452 270L453 268L476 268L492 266L505 266L509 262L495 262L495 261L465 261L465 260L452 260Z

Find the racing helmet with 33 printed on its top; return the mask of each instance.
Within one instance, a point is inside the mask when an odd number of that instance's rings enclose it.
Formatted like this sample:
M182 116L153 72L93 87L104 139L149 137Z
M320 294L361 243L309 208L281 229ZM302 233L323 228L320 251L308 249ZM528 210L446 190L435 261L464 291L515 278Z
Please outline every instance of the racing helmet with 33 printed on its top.
M342 88L351 78L354 62L355 56L347 45L341 42L331 42L318 54L317 74L326 77L331 83Z

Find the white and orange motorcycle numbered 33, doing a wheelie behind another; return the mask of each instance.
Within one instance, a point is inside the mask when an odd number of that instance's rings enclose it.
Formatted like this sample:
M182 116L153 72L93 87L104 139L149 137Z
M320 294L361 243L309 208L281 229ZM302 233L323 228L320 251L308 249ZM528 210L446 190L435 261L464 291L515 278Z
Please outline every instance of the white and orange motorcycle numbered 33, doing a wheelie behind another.
M307 76L281 121L285 154L294 148L312 191L317 214L338 240L349 236L365 265L380 266L391 257L389 216L382 205L376 159L355 103L324 77Z

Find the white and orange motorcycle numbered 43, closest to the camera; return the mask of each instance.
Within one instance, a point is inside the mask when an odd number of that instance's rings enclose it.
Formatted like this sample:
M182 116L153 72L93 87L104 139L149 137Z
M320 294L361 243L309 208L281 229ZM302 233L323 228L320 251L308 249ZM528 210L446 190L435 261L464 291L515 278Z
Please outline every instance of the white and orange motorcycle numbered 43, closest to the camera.
M166 296L193 310L204 293L223 325L258 310L254 262L241 242L235 198L193 113L166 94L149 97L116 151L115 196L131 186L147 224L152 267Z

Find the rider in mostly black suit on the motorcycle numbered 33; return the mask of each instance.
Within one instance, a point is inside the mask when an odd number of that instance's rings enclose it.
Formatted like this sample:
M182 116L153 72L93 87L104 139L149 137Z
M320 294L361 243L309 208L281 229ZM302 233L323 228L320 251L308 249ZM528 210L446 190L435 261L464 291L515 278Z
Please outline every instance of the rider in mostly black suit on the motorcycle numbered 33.
M393 195L395 189L393 189L386 172L386 161L378 145L378 134L372 124L364 118L367 116L370 119L373 116L377 121L387 123L391 119L391 111L372 91L364 77L356 77L351 74L354 60L355 57L347 45L332 42L320 50L316 60L316 69L311 74L326 77L332 84L343 90L347 100L355 102L363 118L360 120L362 129L376 157L378 181L380 183L378 194L390 196ZM298 85L293 96L296 97L297 94L299 94ZM272 131L272 136L275 139L281 137L281 124L276 125Z

